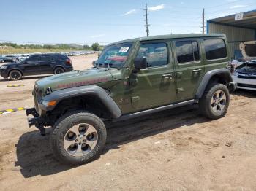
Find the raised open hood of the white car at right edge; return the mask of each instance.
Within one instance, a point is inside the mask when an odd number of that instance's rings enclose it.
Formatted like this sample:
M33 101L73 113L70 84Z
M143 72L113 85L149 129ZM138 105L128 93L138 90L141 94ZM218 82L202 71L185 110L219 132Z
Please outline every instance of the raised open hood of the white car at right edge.
M256 60L256 41L242 42L240 50L247 61Z

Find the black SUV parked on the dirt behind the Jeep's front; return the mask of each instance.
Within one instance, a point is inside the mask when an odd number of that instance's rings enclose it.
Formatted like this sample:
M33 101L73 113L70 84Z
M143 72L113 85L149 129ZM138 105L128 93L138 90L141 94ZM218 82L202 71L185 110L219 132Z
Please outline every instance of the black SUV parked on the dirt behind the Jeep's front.
M20 62L3 64L0 67L0 75L4 78L19 80L23 76L61 74L72 70L72 62L67 55L48 53L35 54Z

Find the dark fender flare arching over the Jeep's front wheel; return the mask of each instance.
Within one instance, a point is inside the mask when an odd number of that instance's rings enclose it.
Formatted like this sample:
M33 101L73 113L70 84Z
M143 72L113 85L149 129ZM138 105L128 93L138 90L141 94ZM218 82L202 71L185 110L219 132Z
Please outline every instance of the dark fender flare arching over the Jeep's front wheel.
M79 86L79 87L71 87L63 90L56 90L50 93L49 95L45 95L44 98L39 103L39 107L45 111L52 111L55 106L62 100L67 98L73 98L80 95L93 95L99 98L102 101L102 104L108 108L111 117L116 119L121 116L121 109L113 101L113 98L102 88L97 85L86 85L86 86ZM45 106L43 101L57 101L55 106Z

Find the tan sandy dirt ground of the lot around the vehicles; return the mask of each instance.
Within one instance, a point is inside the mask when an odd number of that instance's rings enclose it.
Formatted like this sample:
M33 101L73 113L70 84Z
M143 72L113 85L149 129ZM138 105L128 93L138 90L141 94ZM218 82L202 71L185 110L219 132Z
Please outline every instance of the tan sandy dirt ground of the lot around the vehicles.
M97 55L72 57L86 69ZM0 79L0 110L34 106L39 77ZM6 87L23 84L23 87ZM0 190L255 190L256 93L232 93L227 115L200 117L185 106L107 124L101 157L71 168L54 157L47 136L24 111L0 115Z

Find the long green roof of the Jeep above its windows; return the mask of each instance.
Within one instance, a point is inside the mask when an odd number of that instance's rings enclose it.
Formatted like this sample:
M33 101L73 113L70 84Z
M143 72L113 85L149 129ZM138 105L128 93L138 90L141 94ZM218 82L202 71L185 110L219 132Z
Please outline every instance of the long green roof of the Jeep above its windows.
M148 36L148 37L140 37L135 39L127 39L123 41L113 42L112 44L119 44L125 42L135 42L135 41L151 41L151 40L160 40L160 39L181 39L181 38L198 38L198 37L217 37L217 36L225 36L225 34L167 34L167 35L157 35L157 36Z

